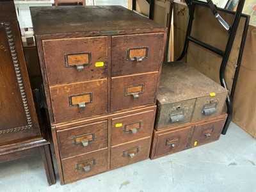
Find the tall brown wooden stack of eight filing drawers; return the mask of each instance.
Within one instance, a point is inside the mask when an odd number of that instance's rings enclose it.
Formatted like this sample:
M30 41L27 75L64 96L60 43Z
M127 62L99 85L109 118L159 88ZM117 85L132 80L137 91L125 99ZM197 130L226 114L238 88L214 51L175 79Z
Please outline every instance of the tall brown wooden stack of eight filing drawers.
M31 17L61 184L147 159L166 28L121 6Z

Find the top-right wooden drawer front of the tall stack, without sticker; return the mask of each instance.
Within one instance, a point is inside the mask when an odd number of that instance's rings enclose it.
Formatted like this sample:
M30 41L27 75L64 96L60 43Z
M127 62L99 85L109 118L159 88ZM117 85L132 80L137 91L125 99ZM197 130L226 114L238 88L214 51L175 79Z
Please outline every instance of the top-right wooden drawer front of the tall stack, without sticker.
M111 76L159 70L164 33L112 37Z

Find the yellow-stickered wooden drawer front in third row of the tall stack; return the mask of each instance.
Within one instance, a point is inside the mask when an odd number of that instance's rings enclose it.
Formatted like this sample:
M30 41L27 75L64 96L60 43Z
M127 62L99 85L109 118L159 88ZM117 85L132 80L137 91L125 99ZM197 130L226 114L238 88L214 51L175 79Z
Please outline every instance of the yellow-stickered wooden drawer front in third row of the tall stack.
M156 109L113 118L111 121L111 145L138 140L151 135Z

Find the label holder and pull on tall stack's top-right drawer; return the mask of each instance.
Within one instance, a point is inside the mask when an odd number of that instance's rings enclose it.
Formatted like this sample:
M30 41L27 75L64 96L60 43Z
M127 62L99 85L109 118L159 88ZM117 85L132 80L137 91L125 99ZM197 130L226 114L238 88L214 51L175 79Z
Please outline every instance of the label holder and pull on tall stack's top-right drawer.
M141 61L148 58L148 47L136 47L127 49L127 61Z

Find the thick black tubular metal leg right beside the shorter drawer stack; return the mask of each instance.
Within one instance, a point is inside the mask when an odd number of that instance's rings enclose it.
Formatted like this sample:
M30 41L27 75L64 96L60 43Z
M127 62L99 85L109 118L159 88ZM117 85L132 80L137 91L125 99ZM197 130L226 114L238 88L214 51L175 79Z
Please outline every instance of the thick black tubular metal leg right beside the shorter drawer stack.
M235 36L236 36L237 27L238 27L238 24L239 24L239 21L240 21L241 13L243 11L243 6L244 6L244 0L239 1L238 6L237 6L237 12L236 12L236 15L234 17L233 24L232 24L232 29L230 30L230 35L229 35L229 38L228 38L228 43L227 43L227 47L226 47L226 50L225 50L225 55L224 55L223 60L221 62L220 82L221 82L221 85L224 88L227 88L227 84L226 84L226 81L225 81L225 69L227 67L227 62L228 62L228 58L230 56L230 51L232 49L232 45L233 45L233 42L234 42L234 39L235 39ZM228 126L229 126L229 124L232 120L232 102L230 100L229 95L228 95L228 98L226 100L226 103L227 103L227 108L228 108L227 109L228 117L227 117L226 123L224 125L224 128L223 128L221 134L226 134L227 133Z

